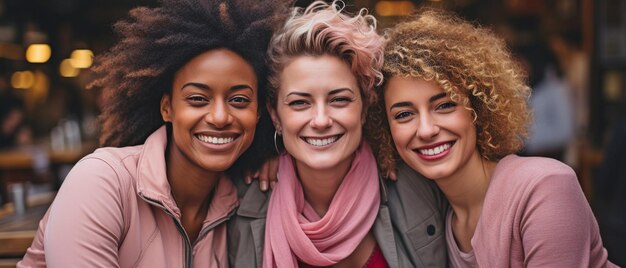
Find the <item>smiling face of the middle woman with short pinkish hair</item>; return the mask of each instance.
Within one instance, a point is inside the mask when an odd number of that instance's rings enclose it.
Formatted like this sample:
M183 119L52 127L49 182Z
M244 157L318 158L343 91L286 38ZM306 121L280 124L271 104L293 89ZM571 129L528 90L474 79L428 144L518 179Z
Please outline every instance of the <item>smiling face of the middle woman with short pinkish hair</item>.
M272 120L303 170L347 168L362 138L363 100L347 63L300 56L280 74Z

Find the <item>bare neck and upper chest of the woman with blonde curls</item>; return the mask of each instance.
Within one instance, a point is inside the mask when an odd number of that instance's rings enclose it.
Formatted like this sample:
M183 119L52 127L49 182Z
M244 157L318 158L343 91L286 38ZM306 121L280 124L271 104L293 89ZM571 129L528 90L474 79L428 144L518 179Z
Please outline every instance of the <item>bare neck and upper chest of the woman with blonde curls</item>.
M475 152L457 172L436 180L458 218L478 220L496 165Z

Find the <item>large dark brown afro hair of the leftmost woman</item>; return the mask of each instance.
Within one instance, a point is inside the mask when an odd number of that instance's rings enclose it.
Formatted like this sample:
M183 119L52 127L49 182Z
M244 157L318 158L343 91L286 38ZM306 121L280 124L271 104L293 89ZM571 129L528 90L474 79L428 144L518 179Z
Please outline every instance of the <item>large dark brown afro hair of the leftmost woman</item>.
M102 89L102 146L142 144L164 124L160 100L171 94L175 73L211 49L232 50L254 68L259 107L265 107L267 46L286 19L290 1L162 0L160 4L134 8L128 18L117 22L119 42L96 59L94 71L100 77L89 87ZM261 115L259 127L265 124L271 127L268 116ZM271 135L257 130L251 148L268 143L257 139L265 136Z

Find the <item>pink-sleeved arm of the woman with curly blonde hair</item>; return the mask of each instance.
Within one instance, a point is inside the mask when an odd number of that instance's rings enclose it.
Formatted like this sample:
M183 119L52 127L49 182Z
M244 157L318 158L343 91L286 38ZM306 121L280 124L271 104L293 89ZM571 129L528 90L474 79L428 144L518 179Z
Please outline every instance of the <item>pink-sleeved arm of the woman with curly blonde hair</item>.
M576 175L560 169L528 196L520 230L527 267L589 267L599 230Z

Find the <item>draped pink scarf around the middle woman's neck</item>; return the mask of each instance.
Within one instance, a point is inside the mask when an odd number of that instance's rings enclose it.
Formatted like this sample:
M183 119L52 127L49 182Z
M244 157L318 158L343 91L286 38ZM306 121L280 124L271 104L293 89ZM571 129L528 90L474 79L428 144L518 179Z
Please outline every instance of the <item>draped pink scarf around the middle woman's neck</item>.
M329 266L348 257L369 232L380 206L378 169L362 142L323 218L304 199L290 155L282 154L279 182L267 212L263 267Z

